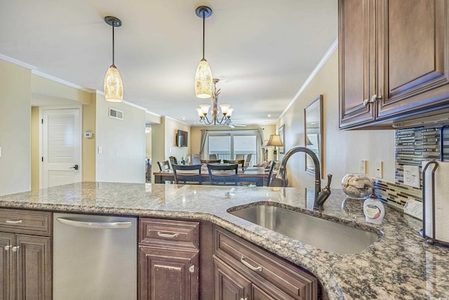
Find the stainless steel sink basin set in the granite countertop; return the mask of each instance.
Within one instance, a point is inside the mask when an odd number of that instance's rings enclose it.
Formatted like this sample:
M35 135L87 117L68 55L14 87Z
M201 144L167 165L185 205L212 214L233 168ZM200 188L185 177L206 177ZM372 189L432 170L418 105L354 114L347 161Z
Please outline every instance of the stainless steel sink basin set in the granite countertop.
M272 205L261 204L243 209L230 209L228 212L276 233L338 254L362 252L380 237L370 231Z

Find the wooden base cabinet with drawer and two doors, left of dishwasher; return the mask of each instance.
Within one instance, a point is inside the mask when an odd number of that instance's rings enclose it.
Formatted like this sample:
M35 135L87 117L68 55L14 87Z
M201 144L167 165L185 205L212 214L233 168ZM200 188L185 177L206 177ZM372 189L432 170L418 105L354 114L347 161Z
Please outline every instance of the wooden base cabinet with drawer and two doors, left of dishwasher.
M52 299L51 213L0 209L0 246L1 299Z

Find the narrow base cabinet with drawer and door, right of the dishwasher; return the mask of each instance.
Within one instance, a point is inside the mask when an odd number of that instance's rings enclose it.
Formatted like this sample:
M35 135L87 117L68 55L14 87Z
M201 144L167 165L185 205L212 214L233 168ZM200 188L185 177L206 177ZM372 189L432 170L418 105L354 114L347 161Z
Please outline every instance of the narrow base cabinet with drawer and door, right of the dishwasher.
M199 299L199 223L139 221L139 299Z

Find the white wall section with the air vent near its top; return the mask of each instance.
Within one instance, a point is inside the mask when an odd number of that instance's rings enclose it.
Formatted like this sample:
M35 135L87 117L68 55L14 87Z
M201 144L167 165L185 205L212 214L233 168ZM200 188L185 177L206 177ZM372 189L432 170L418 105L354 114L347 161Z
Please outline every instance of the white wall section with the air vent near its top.
M96 103L96 181L145 183L145 111L100 94ZM109 117L109 107L121 110L123 120Z

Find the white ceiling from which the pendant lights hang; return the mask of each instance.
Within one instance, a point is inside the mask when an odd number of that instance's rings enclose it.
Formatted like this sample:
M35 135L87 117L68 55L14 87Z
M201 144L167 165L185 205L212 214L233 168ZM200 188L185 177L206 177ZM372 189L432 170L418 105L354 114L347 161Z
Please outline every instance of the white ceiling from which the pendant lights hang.
M116 16L123 99L193 124L196 107L210 104L194 95L201 5L213 10L205 57L236 124L274 124L337 39L337 0L1 0L0 55L102 91L112 64L103 18Z

